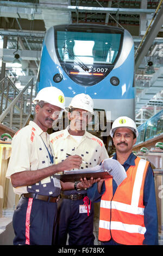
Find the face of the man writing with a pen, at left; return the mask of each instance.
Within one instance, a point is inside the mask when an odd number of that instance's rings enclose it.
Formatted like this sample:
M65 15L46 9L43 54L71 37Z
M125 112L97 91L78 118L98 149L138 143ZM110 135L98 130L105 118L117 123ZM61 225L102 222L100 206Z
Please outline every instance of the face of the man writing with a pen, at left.
M43 131L47 131L48 128L52 128L53 121L58 118L61 110L60 107L50 103L45 103L42 108L36 105L36 124L39 125Z

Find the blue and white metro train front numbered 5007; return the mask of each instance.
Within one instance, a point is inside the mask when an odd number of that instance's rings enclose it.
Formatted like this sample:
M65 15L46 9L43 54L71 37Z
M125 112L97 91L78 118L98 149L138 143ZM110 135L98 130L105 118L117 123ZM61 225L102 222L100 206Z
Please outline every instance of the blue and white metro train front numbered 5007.
M135 118L134 42L126 29L105 25L53 26L42 44L36 91L55 86L66 106L89 94L106 121Z

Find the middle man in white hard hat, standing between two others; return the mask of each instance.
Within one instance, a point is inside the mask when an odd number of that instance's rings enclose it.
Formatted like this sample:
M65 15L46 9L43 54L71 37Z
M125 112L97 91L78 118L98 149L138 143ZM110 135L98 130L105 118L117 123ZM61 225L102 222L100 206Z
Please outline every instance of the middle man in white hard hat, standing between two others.
M80 169L85 169L109 157L103 141L86 131L92 114L93 100L89 95L82 93L73 97L68 112L70 126L51 135L58 163L68 155L79 155L82 157ZM59 204L57 244L66 245L68 234L68 245L93 245L93 204L86 190L79 190L75 182L73 190L61 193Z

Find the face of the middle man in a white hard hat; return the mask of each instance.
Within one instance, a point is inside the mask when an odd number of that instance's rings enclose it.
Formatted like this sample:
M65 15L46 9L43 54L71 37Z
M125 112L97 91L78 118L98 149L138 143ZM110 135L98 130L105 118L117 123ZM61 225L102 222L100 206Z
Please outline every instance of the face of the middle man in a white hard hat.
M71 129L78 131L84 131L86 125L91 120L90 113L80 108L76 108L71 113L68 113L68 118L71 121Z

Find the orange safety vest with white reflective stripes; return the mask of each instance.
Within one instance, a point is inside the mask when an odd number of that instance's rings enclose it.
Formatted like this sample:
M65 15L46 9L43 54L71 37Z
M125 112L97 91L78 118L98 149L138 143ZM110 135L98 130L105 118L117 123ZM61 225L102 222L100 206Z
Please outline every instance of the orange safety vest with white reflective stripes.
M112 195L112 179L105 181L99 217L99 241L112 237L122 245L142 245L145 239L143 188L149 162L136 157L135 166Z

